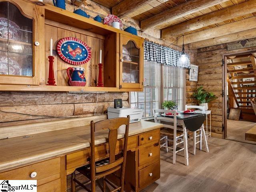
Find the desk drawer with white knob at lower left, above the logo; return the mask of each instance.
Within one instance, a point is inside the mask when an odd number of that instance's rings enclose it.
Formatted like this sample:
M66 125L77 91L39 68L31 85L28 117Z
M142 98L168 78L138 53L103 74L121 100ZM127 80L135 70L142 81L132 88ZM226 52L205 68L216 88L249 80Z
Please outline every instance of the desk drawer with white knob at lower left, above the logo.
M54 158L32 165L24 166L14 170L0 173L0 180L40 180L40 184L49 182L45 178L50 177L56 179L60 173L60 158ZM53 175L55 175L53 177ZM39 185L39 184L38 184Z

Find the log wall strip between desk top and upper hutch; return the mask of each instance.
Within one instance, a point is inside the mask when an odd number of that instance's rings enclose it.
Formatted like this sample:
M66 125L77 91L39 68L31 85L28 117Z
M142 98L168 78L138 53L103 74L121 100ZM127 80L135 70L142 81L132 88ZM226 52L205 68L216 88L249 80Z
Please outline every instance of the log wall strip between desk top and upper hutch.
M68 93L68 92L0 92L0 127L60 120L50 117L85 117L104 114L122 98L128 107L128 92ZM98 97L98 102L97 101ZM2 112L4 111L4 112ZM28 114L28 115L24 115Z

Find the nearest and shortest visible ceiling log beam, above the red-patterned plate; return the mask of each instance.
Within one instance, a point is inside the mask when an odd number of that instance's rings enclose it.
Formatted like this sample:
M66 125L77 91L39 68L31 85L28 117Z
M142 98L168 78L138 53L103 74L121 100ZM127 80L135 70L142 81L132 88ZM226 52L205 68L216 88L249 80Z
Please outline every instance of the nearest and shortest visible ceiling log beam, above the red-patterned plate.
M134 12L135 10L146 6L153 0L123 0L112 7L112 14L120 17Z

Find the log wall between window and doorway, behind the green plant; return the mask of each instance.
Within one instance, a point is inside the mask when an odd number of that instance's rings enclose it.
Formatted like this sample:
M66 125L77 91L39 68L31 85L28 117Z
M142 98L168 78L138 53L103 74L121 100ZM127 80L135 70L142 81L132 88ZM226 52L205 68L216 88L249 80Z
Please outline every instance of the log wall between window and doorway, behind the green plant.
M256 38L249 39L255 40ZM198 82L196 87L193 86L190 90L195 91L199 86L203 86L206 91L213 92L218 98L209 103L209 110L212 110L212 136L222 138L222 56L225 54L232 54L236 52L245 52L248 50L255 50L256 47L243 48L238 50L228 51L228 44L238 43L230 42L199 48L197 50L196 65L199 66ZM187 82L188 84L188 82ZM193 84L189 82L189 84ZM187 93L187 102L196 103L192 98L192 93ZM208 122L209 125L209 122Z

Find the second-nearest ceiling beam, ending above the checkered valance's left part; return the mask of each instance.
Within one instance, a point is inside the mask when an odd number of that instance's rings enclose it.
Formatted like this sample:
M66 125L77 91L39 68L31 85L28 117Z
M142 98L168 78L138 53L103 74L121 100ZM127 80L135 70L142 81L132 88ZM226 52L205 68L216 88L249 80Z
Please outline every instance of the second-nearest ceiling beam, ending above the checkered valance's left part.
M130 1L130 0L129 0ZM141 30L160 25L162 23L186 16L188 14L203 10L210 6L225 2L227 0L190 0L178 6L172 7L162 13L156 14L140 22Z

